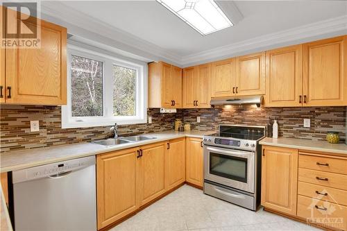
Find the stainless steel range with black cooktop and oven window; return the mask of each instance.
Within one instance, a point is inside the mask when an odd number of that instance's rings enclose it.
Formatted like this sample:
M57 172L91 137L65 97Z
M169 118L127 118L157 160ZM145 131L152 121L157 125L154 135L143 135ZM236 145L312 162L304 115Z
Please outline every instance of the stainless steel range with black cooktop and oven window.
M263 126L221 125L203 137L205 194L248 209L260 205Z

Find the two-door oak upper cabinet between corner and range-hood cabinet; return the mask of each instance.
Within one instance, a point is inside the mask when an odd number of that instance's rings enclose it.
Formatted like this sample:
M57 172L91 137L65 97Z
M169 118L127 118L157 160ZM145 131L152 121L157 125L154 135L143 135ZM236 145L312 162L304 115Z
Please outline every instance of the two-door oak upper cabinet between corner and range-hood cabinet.
M183 108L210 108L211 64L183 69Z

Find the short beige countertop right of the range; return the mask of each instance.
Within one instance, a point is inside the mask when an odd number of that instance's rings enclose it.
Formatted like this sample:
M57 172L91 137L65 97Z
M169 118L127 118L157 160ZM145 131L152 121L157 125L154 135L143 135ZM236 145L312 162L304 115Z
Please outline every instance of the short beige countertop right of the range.
M307 151L318 151L323 153L336 153L343 154L347 157L347 145L346 144L330 144L325 141L314 141L307 139L289 139L289 138L278 138L273 139L265 137L259 144L278 146L282 148L296 148Z

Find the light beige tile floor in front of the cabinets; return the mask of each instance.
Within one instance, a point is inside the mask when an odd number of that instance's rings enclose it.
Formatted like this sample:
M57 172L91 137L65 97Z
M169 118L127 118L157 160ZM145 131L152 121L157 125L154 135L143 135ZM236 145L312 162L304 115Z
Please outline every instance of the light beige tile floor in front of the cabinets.
M184 185L153 203L117 230L319 230L310 225L265 212L252 212Z

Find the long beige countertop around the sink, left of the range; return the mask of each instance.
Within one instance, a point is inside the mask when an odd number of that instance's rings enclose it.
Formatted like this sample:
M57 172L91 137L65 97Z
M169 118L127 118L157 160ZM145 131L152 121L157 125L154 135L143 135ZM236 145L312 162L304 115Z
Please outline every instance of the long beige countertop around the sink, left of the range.
M33 166L42 164L51 164L54 162L61 162L65 160L72 160L75 158L86 157L89 155L96 155L100 153L107 153L110 151L118 151L125 148L133 148L145 144L152 144L155 142L163 142L169 139L176 139L180 137L196 137L202 138L203 135L211 134L212 132L156 132L144 134L156 139L149 139L140 142L129 142L126 144L118 144L116 146L102 146L100 144L93 144L90 142L64 144L57 146L50 146L46 148L33 148L21 151L10 151L0 154L0 172L15 171L19 169L26 169Z

